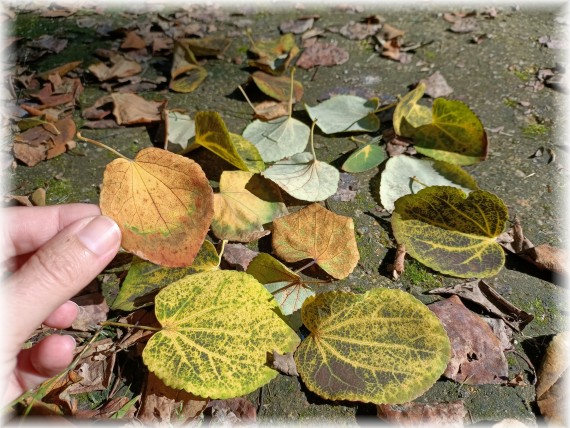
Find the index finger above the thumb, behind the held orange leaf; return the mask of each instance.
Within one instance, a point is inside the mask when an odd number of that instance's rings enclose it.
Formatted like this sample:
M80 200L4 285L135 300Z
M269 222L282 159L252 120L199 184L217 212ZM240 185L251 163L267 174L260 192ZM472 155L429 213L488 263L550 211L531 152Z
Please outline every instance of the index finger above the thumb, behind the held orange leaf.
M31 253L71 223L101 214L94 204L9 207L2 211L0 248L4 260Z

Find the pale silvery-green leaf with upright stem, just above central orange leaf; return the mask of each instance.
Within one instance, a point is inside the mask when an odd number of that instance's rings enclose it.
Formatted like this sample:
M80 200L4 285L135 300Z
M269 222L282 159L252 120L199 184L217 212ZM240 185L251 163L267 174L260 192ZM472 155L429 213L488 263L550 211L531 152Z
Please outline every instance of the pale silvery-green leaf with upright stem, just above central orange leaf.
M336 193L340 173L325 162L314 160L308 152L277 162L262 175L291 196L303 201L324 201Z

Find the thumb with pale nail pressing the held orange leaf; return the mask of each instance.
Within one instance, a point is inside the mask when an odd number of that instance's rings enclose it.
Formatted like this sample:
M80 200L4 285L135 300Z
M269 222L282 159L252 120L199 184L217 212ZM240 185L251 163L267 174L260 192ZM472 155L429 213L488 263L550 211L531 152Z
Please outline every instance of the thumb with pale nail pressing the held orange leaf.
M39 248L6 284L7 321L18 321L8 343L23 343L105 268L120 243L117 224L96 216L71 224Z

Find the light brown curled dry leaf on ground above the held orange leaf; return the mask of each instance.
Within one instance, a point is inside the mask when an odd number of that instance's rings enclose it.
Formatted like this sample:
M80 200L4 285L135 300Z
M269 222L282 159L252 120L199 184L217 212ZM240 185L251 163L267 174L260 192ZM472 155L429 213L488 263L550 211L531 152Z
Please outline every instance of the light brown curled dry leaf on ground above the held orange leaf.
M147 101L129 93L111 94L114 103L113 115L119 125L136 125L159 122L166 101Z

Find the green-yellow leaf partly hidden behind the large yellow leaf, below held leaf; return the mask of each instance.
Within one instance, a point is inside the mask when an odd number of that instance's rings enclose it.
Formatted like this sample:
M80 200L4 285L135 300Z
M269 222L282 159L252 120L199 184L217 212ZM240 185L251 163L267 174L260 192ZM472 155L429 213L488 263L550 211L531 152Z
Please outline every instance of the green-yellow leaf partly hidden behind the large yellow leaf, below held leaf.
M111 309L133 311L153 303L152 293L187 275L218 268L220 257L210 241L204 241L189 267L168 268L133 257L131 267Z

